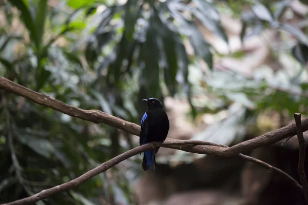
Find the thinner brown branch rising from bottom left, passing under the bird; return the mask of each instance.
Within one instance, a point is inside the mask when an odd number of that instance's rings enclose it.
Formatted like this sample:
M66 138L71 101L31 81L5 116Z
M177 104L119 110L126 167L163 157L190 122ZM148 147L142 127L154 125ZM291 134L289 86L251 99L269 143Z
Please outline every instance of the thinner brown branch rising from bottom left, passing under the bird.
M214 143L211 143L211 142L205 142L205 141L200 141L200 140L173 139L173 140L166 140L166 141L163 142L163 144L158 143L158 142L151 142L149 144L131 149L131 150L129 150L129 151L117 156L117 157L114 157L114 158L110 159L109 161L102 163L102 165L98 166L97 168L94 168L94 169L88 171L87 173L81 175L80 177L75 178L75 179L73 179L69 182L63 183L62 185L58 185L58 186L52 187L50 189L43 190L43 191L41 191L37 194L34 194L32 196L29 196L27 198L23 198L23 199L20 199L20 200L16 200L16 201L13 201L13 202L10 202L10 203L0 204L0 205L13 205L13 204L14 205L21 205L21 204L35 203L35 202L40 201L42 199L46 199L49 196L52 196L56 193L60 193L60 192L63 192L63 191L73 189L73 188L79 186L81 183L83 183L83 182L87 181L88 179L92 178L93 176L98 175L102 172L105 172L106 170L108 170L111 167L117 165L121 161L123 161L123 160L125 160L129 157L132 157L136 154L139 154L141 152L144 152L146 150L154 149L158 146L168 146L168 145L181 146L181 145L187 145L187 144L189 144L191 146L194 146L194 145L210 145L210 146L217 146L217 147L226 147L226 146L223 146L223 145L218 145L218 144L214 144ZM289 180L292 185L294 185L296 188L298 188L300 191L302 191L302 187L299 185L299 183L296 180L294 180L291 176L289 176L285 172L283 172L282 170L275 168L275 167L272 167L271 165L268 165L268 163L265 163L265 162L263 162L259 159L253 158L253 157L249 157L249 156L246 156L246 155L243 155L243 154L239 154L239 156L246 161L257 163L258 165L260 165L261 167L263 167L267 170L275 171L277 174L280 174L282 177Z

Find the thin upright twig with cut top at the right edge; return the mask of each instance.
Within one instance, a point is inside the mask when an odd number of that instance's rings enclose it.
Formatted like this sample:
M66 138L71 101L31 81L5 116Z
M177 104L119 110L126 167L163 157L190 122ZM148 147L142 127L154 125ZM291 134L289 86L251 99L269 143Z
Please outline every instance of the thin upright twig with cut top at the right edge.
M300 182L303 187L303 192L305 196L305 200L308 203L308 183L305 175L305 139L303 135L302 125L301 125L301 114L300 113L294 113L294 119L296 124L296 131L297 131L297 138L298 138L298 144L299 144L299 154L298 154L298 175L300 178Z

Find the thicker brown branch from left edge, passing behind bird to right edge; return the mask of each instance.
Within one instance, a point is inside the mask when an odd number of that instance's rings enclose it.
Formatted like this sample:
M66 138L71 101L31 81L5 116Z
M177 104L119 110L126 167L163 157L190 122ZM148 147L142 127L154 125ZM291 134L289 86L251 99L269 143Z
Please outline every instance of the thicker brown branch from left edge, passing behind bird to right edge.
M133 135L139 136L140 134L140 126L136 124L109 115L99 110L83 110L80 108L67 105L62 101L57 100L53 97L37 93L21 85L18 85L5 77L0 77L0 89L7 90L17 95L23 96L27 99L34 101L37 104L52 108L59 112L70 115L72 117L88 120L94 123L104 123L116 127L118 129L124 130L125 132ZM308 130L308 118L303 119L301 122L302 122L302 130L303 131ZM214 147L208 145L197 145L197 146L185 145L181 147L178 145L164 145L163 147L183 150L192 153L216 154L227 157L227 156L237 155L241 152L249 151L265 145L274 144L277 141L280 141L282 139L285 139L293 135L294 131L292 130L292 125L288 125L278 130L268 132L262 136L247 141L243 141L240 144L237 144L230 148ZM167 138L167 140L169 139L170 138Z

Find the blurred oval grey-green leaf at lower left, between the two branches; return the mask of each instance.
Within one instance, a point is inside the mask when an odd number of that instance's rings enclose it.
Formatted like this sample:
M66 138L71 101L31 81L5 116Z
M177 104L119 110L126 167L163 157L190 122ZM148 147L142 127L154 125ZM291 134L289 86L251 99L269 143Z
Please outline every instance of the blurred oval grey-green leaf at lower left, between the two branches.
M31 148L34 152L46 157L51 158L55 152L55 148L47 139L32 137L30 135L18 133L18 139Z

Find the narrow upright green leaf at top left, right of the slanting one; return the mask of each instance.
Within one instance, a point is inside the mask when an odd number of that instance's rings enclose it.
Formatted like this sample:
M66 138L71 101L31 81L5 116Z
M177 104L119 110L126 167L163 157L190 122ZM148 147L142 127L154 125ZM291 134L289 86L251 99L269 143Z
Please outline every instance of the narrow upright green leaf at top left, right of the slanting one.
M47 16L47 0L40 0L36 8L35 25L37 32L37 51L40 51L43 43L43 35L45 31L45 22Z

